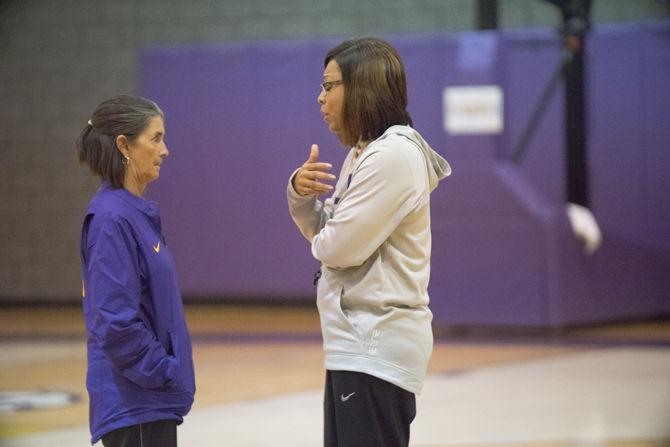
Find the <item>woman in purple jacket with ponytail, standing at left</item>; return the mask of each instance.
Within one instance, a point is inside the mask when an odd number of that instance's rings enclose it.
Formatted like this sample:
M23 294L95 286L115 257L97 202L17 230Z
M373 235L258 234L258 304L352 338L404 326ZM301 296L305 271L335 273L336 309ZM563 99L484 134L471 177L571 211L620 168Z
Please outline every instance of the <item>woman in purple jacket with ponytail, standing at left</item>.
M163 112L144 98L102 102L77 139L102 179L81 236L91 443L177 445L193 403L191 340L158 205L143 198L168 155Z

